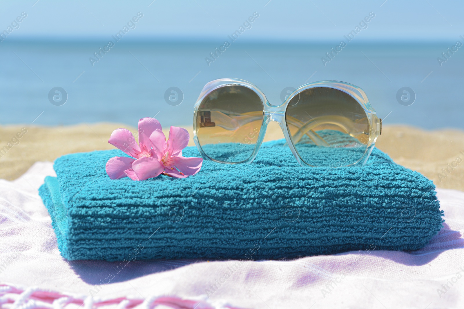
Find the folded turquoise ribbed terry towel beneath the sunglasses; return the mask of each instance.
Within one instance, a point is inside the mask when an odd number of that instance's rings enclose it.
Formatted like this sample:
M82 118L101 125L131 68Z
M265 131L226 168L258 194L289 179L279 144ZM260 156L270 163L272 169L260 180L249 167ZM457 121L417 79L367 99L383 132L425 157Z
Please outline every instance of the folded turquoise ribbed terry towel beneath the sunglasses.
M195 147L183 151L198 156ZM122 151L56 159L39 194L58 247L76 259L281 259L415 250L438 233L435 186L374 149L365 166L300 167L282 140L252 164L204 161L197 175L111 180Z

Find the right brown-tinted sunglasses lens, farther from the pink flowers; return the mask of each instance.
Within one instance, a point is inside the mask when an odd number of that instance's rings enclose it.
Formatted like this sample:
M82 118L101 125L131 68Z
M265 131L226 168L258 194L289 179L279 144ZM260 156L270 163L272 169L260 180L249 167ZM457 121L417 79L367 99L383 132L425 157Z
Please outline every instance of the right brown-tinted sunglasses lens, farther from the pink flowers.
M363 157L369 122L351 95L326 87L303 90L289 102L287 126L296 151L309 165L339 167Z

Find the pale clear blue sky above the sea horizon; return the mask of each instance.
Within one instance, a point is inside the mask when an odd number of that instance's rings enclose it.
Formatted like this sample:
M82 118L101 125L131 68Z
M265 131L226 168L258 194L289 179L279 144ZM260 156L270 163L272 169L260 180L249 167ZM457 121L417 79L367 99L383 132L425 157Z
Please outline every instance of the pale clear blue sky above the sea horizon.
M365 40L455 39L464 34L463 1L3 1L0 28L27 13L13 38L101 38L143 18L131 38L224 38L258 12L246 40L333 40L353 30L370 12Z

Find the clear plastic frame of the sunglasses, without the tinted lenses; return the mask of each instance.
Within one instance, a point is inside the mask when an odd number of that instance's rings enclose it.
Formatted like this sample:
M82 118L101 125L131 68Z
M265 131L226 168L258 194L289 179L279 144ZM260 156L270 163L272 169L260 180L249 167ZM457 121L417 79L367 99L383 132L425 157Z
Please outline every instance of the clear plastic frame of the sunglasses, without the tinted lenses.
M263 123L261 125L261 130L259 131L259 135L258 135L255 148L250 158L242 162L224 162L224 161L219 161L219 160L215 160L214 158L208 157L208 155L206 155L206 153L201 148L201 145L197 137L198 128L197 128L196 119L198 116L198 109L200 107L201 102L213 90L221 88L221 87L225 87L225 86L244 86L244 87L250 88L259 96L263 104L264 118L263 118ZM247 82L241 79L236 79L236 78L221 78L221 79L214 80L212 82L208 82L205 85L205 87L203 87L203 90L201 91L200 96L194 105L194 114L193 114L193 140L198 150L200 151L201 157L206 160L212 160L212 161L219 162L219 163L226 163L226 164L248 163L249 164L253 162L253 160L258 155L259 148L261 147L261 144L263 143L263 140L264 140L264 135L266 134L267 125L271 121L276 121L279 124L280 128L282 129L282 132L284 132L284 137L287 142L287 145L290 147L290 150L295 156L296 161L298 161L298 163L301 166L312 166L304 162L303 159L298 154L298 151L296 151L295 145L293 144L293 141L290 138L290 132L289 132L289 129L286 123L285 111L287 109L288 104L290 103L291 99L294 96L298 95L299 93L301 93L302 91L306 89L315 88L315 87L327 87L327 88L333 88L333 89L343 91L347 93L348 95L350 95L351 97L353 97L364 109L364 112L366 113L367 120L369 123L369 132L368 132L368 141L367 141L366 151L364 151L364 154L361 157L361 159L359 159L353 164L348 164L345 166L366 164L367 159L369 158L372 150L374 149L375 141L381 133L382 120L377 118L377 114L375 113L374 108L369 103L369 100L367 99L367 95L364 93L364 91L361 88L355 85L349 84L347 82L338 82L338 81L320 81L320 82L311 82L309 84L305 84L295 89L295 91L293 91L287 97L284 103L278 106L271 105L269 101L266 99L266 96L264 95L264 93L257 86L253 85L250 82Z

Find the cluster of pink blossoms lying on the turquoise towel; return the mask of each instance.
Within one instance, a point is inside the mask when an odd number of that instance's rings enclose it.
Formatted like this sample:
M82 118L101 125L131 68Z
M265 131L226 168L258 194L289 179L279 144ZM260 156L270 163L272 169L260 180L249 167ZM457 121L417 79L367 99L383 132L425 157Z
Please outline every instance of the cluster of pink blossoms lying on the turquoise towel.
M127 153L128 157L113 157L106 163L106 173L111 179L129 177L145 180L161 173L170 177L185 178L195 175L201 168L202 158L182 157L190 135L177 126L169 129L169 139L161 131L161 124L155 118L139 120L139 144L127 129L116 129L108 143Z

